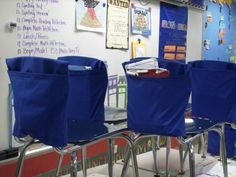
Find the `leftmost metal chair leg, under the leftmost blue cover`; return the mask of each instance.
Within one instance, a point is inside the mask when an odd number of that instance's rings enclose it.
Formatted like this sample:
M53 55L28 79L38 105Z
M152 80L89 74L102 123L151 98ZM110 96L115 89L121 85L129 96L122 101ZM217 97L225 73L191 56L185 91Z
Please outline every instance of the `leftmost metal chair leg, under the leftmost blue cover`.
M21 176L22 167L23 167L23 164L24 164L25 152L26 152L27 148L29 146L31 146L32 144L34 144L33 140L25 143L25 145L20 150L20 156L18 158L18 163L17 163L17 167L16 167L16 175L15 175L16 177L20 177Z

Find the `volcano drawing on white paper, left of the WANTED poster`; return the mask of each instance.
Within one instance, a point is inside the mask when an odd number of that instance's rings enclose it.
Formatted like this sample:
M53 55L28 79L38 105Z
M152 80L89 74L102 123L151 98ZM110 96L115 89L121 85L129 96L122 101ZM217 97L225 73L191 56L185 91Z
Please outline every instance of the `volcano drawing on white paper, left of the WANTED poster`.
M76 1L76 28L93 32L105 32L106 0Z

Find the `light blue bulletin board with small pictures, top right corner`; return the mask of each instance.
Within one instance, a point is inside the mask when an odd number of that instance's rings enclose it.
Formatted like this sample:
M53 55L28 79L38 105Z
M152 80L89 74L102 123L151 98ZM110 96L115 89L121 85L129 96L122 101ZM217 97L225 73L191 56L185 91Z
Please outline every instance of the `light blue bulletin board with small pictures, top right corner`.
M235 55L236 5L205 3L203 58L228 62Z

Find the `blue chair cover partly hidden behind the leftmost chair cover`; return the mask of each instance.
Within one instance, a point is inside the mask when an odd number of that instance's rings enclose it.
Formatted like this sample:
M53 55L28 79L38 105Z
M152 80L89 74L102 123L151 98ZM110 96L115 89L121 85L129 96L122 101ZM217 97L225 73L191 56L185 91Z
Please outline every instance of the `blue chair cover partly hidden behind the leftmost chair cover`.
M68 119L104 122L107 69L103 61L80 56L60 57L70 66L88 66L89 70L69 70ZM84 127L88 131L87 127ZM84 138L84 137L83 137Z

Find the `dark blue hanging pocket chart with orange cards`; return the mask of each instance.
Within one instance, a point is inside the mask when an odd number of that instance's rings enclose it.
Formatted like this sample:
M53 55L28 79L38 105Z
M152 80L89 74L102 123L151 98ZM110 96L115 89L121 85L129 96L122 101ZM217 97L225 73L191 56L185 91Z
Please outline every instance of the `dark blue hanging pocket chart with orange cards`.
M161 2L159 57L186 59L188 9Z

